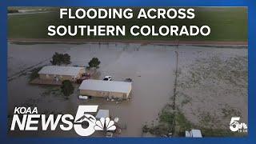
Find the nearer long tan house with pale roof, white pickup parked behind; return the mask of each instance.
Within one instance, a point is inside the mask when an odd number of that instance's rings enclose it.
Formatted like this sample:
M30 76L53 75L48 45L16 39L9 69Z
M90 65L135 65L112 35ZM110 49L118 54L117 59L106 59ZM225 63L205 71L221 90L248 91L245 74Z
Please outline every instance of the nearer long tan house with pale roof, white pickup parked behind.
M79 90L86 96L126 99L131 91L131 82L87 79L82 81Z

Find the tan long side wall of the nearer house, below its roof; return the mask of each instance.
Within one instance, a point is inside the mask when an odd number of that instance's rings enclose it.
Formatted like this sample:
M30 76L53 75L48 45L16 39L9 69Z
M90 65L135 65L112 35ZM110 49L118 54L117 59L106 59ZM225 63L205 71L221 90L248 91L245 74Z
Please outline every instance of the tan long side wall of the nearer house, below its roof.
M81 95L102 97L102 98L128 98L130 93L107 92L97 90L80 90Z

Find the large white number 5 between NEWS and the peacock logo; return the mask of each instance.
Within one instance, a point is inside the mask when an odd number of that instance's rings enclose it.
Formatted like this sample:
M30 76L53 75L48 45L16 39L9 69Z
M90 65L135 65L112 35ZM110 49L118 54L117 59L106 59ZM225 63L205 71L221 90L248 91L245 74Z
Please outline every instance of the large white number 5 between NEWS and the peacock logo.
M78 106L77 114L74 118L74 130L77 134L81 136L89 136L94 134L94 126L96 122L96 118L94 118L91 114L86 113L94 113L98 109L98 106ZM88 122L89 126L86 128L82 127L84 122Z

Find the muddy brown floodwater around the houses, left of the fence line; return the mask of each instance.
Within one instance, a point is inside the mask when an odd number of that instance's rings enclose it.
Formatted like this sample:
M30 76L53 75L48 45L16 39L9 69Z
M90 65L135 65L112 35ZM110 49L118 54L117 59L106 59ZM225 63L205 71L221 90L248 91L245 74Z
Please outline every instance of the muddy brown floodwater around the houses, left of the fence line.
M139 49L138 49L139 47ZM132 78L132 99L129 102L116 104L106 99L92 98L89 101L78 100L78 91L65 100L59 96L42 96L48 86L31 86L27 76L21 75L8 82L8 114L12 114L14 106L38 106L40 113L74 114L78 105L96 104L100 109L109 109L110 115L120 118L126 124L120 136L140 137L142 126L158 118L158 112L169 101L173 93L174 83L174 47L138 46L125 44L84 44L84 45L9 45L8 75L12 76L30 66L49 64L55 51L65 52L71 56L71 65L86 66L91 58L101 61L100 78L112 75L114 80L122 81ZM50 136L52 133L34 133L33 135ZM58 132L59 136L76 136L75 133Z

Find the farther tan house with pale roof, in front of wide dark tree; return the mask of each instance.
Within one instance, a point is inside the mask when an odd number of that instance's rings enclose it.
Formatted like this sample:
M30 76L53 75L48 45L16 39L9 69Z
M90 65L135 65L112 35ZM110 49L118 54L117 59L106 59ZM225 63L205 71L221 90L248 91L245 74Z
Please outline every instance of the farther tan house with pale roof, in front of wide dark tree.
M70 80L75 82L78 78L81 78L82 74L85 72L86 70L84 67L44 66L42 70L38 72L38 74L39 78L42 80L52 80L55 82Z

